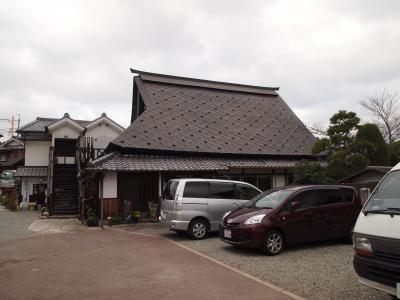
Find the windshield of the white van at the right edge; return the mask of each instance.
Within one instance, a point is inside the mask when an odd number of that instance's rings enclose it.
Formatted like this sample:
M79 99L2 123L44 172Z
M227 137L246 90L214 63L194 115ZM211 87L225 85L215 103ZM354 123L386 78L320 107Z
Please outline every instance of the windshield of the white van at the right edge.
M385 176L365 205L364 213L367 212L400 214L400 170Z

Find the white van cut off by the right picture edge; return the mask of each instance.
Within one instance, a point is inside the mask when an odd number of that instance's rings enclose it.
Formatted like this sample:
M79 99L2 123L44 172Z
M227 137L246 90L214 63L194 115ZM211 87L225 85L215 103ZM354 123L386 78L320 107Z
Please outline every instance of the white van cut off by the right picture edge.
M400 163L369 196L353 242L360 282L400 298Z

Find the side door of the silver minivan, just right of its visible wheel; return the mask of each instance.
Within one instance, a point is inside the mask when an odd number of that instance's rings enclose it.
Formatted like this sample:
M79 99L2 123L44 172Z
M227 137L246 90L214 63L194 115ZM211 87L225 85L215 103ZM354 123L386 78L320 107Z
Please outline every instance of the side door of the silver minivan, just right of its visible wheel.
M238 205L235 199L235 184L233 182L210 182L208 214L211 229L217 230L222 216Z

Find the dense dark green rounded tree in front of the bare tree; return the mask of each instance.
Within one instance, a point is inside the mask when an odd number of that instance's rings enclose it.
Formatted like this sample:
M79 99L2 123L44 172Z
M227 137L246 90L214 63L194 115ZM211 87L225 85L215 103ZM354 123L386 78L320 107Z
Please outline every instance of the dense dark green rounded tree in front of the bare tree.
M389 164L388 146L376 124L367 123L358 126L354 147L372 165L386 166Z

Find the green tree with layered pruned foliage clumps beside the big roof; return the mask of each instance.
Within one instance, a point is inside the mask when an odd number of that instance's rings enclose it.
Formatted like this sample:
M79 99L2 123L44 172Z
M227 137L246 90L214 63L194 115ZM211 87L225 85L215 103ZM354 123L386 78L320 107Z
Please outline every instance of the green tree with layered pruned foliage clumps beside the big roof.
M330 118L331 125L327 130L333 150L349 150L354 142L352 131L357 129L360 118L355 112L339 110Z

